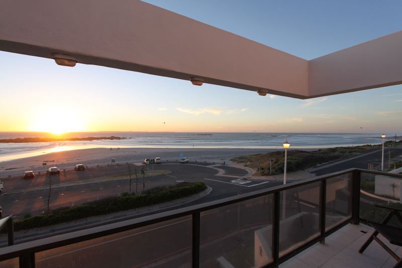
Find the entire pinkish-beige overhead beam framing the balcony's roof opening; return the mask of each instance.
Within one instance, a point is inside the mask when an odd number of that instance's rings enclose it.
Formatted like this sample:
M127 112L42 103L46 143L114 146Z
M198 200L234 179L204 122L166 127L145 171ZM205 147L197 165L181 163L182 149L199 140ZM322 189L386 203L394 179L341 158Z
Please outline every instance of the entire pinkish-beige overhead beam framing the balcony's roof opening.
M0 50L308 99L402 83L402 31L306 60L137 0L6 0Z

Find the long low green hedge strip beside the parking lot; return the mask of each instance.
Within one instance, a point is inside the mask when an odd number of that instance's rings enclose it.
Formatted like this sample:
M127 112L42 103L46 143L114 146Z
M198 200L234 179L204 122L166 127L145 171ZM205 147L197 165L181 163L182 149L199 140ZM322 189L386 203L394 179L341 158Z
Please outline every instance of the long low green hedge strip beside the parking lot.
M57 209L48 214L24 217L14 222L14 229L16 231L27 230L91 216L156 205L188 197L200 193L205 189L207 189L207 186L204 183L180 183L175 186L151 189L141 195L123 193L120 197L109 197L84 205Z

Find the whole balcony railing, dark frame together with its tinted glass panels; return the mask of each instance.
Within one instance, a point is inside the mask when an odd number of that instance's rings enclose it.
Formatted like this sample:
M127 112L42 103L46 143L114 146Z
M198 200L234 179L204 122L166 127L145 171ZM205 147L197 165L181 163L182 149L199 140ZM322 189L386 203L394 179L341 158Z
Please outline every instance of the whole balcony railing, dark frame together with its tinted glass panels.
M347 169L7 246L0 249L0 267L277 267L311 245L325 242L326 236L344 225L358 224L360 212L369 215L364 212L377 200L373 194L361 192L361 183L364 180L366 187L369 182L368 187L375 185L377 191L379 176L402 178L399 174ZM387 200L381 198L381 202Z

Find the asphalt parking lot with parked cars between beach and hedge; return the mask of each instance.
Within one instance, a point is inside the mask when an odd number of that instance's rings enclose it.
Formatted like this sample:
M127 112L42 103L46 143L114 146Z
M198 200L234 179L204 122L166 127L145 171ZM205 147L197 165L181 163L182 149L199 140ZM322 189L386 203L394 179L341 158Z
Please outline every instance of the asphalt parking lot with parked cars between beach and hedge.
M247 193L255 190L272 187L279 183L253 182L242 180L238 177L217 176L218 170L202 165L192 164L155 164L155 170L171 170L169 174L145 177L145 190L158 186L174 185L179 182L204 182L213 188L210 195L195 202L186 204L194 205L213 200L218 200L239 193ZM245 170L235 167L225 167L226 174L246 174ZM50 209L61 207L71 207L84 204L90 201L118 196L123 192L129 191L127 166L93 167L85 171L66 170L60 175L52 176L50 195ZM109 181L95 180L96 177L113 176L116 178ZM121 177L124 177L123 179ZM45 174L37 175L34 179L24 180L22 177L11 177L4 181L5 189L0 197L0 205L3 207L3 216L13 214L22 217L26 214L40 214L47 210L49 196L49 178ZM84 183L84 184L78 184ZM65 185L67 184L67 185ZM137 182L135 175L132 175L131 191L135 192ZM143 190L142 177L138 178L138 192ZM183 205L184 206L184 205Z

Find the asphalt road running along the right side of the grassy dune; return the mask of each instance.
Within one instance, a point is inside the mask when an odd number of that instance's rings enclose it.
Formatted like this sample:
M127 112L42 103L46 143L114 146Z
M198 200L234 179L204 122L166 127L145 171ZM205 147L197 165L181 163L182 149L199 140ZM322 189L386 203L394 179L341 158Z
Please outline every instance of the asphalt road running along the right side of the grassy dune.
M394 157L398 157L402 155L402 148L385 148L384 150L384 162L388 161L388 151L391 154L391 159ZM339 161L335 165L327 166L326 164L323 165L321 169L315 169L312 173L317 175L324 175L332 172L341 171L348 168L363 168L367 169L368 164L372 163L375 166L381 165L381 150L375 151L370 154L362 155L358 158L353 158L346 161ZM385 164L386 165L386 164Z

